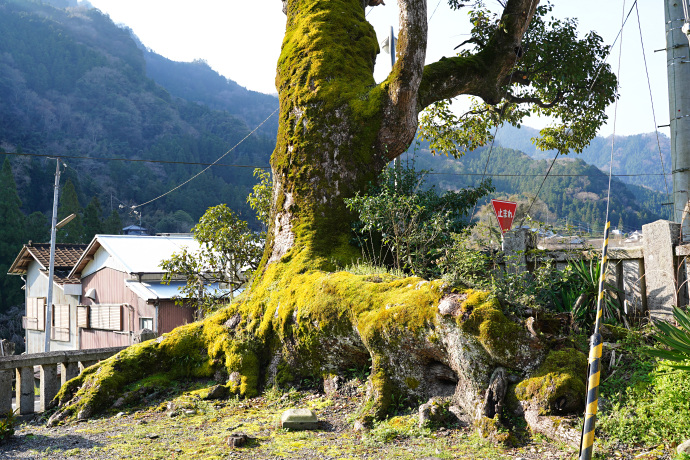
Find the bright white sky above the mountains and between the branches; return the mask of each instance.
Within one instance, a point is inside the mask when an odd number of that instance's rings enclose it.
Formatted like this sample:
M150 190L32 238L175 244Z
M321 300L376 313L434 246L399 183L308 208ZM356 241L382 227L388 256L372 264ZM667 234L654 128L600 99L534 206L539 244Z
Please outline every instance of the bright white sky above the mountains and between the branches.
M487 4L499 7L497 0ZM130 27L142 43L174 61L205 60L214 70L247 89L275 94L275 67L285 32L285 15L279 0L90 0L117 24ZM559 0L554 15L576 18L584 33L594 30L604 43L613 43L621 28L623 11L631 0ZM638 2L640 27L633 10L608 59L618 73L619 45L620 99L618 108L608 108L609 120L599 132L608 136L653 132L652 102L656 124L668 124L666 56L654 50L665 47L663 2ZM467 14L451 11L446 0L428 1L429 41L427 62L453 56L453 48L467 38L470 29ZM367 8L379 41L393 26L397 36L398 9L394 0L384 6ZM640 39L642 31L642 40ZM642 44L644 44L644 48ZM644 49L644 55L642 53ZM652 98L645 70L645 57ZM385 79L390 71L390 57L379 55L375 78ZM614 113L617 113L614 123ZM549 120L530 119L525 124L541 128ZM660 132L669 134L668 128Z

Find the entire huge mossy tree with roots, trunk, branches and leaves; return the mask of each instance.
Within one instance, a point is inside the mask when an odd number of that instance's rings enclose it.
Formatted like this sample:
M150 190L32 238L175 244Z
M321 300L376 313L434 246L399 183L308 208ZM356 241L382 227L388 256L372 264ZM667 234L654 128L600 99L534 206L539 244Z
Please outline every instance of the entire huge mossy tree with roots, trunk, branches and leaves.
M397 61L377 84L379 47L365 9L380 3L283 1L273 203L251 287L203 322L86 370L62 388L52 423L108 409L123 392L127 400L139 394L128 385L153 374L215 377L232 393L253 396L267 385L333 379L363 366L370 366L365 421L384 416L396 396L449 396L474 420L500 415L504 400L513 401L535 427L544 414L582 406L577 366L564 365L563 375L545 370L556 353L551 342L490 294L336 267L360 256L350 245L353 214L344 199L409 147L420 112L431 106L440 122L427 134L452 132L468 146L486 141L495 123L551 115L557 122L542 132L541 145L579 150L614 97L606 48L594 34L579 39L573 21L547 21L549 8L537 0L507 0L495 19L474 4L464 51L425 64L426 1L399 0ZM446 101L459 95L477 102L453 118ZM583 359L574 349L557 353L566 364ZM528 382L528 390L510 390L511 381Z

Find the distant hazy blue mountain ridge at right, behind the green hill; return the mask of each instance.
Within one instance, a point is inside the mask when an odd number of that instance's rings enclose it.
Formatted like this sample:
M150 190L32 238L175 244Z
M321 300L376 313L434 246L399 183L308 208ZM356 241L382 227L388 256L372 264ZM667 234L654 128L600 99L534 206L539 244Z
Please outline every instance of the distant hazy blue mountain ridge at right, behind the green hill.
M527 126L518 129L504 125L498 130L496 141L503 147L520 150L532 158L552 159L556 151L537 150L532 143L531 139L538 134L539 130ZM571 153L568 158L581 158L608 174L611 162L611 140L612 136L597 136L581 154ZM661 174L662 160L666 173L671 172L671 140L662 133L659 133L658 143L655 133L616 136L613 147L613 174ZM620 177L620 180L657 192L667 192L667 183L662 175ZM670 175L667 176L667 181L669 191L672 191L673 184Z

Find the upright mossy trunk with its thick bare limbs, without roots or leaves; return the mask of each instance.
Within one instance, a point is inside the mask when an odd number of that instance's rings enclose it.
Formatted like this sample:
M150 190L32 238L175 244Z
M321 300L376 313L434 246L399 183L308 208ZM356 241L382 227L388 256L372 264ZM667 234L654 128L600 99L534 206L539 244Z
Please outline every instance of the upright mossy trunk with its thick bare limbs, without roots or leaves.
M264 267L293 247L347 264L350 214L343 199L366 188L409 147L429 104L459 94L502 99L537 0L509 0L475 56L425 66L427 5L400 0L396 64L373 79L379 51L361 0L289 0L276 86L280 125L271 166L274 200ZM505 94L503 94L505 95Z

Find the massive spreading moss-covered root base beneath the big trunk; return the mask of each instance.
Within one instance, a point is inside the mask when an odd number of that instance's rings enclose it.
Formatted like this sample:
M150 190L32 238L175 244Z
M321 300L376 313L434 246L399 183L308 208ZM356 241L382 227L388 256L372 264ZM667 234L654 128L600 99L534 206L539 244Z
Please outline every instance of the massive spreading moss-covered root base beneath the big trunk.
M577 368L586 366L584 355L548 354L546 336L507 316L488 293L455 292L440 280L305 270L300 260L284 259L203 322L85 370L63 386L49 423L104 411L128 385L155 375L215 377L229 393L251 397L369 360L364 422L384 417L394 398L452 397L475 421L498 420L504 399L509 410L539 420L582 408L584 369Z

